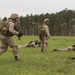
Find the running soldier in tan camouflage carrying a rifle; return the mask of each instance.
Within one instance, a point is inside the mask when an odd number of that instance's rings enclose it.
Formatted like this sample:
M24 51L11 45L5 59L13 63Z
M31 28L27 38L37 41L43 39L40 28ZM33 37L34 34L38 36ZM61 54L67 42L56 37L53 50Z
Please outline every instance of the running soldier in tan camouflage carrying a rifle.
M12 48L14 59L18 60L18 48L14 40L11 38L13 35L22 36L21 32L14 30L15 23L19 21L19 16L16 13L11 14L7 23L7 28L2 27L0 34L0 55L7 51L8 46ZM4 33L6 32L6 34Z

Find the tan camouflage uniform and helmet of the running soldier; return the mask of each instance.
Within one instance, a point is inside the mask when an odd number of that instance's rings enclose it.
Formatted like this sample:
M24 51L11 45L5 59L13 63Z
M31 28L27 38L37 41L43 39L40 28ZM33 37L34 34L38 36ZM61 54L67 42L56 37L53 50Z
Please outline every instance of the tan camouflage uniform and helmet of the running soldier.
M14 19L14 20L13 20ZM9 26L9 33L11 35L18 35L19 32L14 30L15 22L18 21L18 15L13 13L10 17L10 21L8 23ZM14 43L14 40L9 35L0 35L1 45L0 45L0 55L7 51L8 46L12 48L15 60L18 60L18 48L17 45Z

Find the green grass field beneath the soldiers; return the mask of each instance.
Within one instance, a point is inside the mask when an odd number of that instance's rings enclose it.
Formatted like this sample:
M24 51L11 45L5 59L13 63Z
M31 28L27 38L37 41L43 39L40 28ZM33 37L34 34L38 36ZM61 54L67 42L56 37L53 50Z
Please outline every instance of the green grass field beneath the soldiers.
M21 41L13 37L17 44L26 44L38 36L23 36ZM75 44L73 36L51 36L48 52L40 48L19 49L19 61L14 61L11 48L0 56L0 75L75 75L74 51L54 52L53 48L65 48Z

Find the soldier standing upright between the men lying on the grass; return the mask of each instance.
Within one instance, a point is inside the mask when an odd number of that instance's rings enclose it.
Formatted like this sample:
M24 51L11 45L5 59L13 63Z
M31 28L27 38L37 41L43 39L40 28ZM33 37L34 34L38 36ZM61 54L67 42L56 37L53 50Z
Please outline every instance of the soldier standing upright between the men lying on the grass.
M48 27L48 24L49 24L49 19L44 19L44 22L43 22L43 30L44 31L44 34L40 34L39 38L41 40L41 52L43 51L48 51L48 39L50 39L50 33L49 33L49 27Z

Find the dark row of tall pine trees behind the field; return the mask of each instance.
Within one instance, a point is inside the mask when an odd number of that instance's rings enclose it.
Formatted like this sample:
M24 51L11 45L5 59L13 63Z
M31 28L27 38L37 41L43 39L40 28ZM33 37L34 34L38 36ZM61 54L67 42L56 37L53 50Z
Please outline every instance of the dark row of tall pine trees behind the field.
M68 9L51 14L20 16L20 23L17 27L24 35L38 35L38 26L43 23L45 18L49 18L49 29L52 36L75 35L75 10ZM7 17L3 18L3 20L6 19Z

